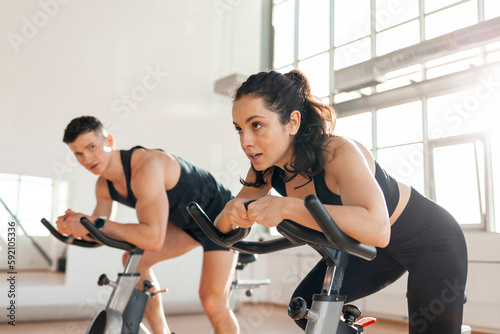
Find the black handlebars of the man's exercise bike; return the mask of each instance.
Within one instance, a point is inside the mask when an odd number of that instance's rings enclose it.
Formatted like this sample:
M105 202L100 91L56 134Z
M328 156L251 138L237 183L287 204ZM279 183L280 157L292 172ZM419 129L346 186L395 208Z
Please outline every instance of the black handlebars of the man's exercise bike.
M45 218L42 218L42 224L49 230L49 232L59 239L60 241L70 244L70 245L75 245L75 246L80 246L80 247L99 247L102 245L106 245L109 247L113 248L118 248L122 249L128 252L139 252L142 251L140 248L137 248L136 246L132 245L131 243L125 242L125 241L120 241L116 239L109 238L105 236L101 231L97 229L97 227L92 224L90 220L88 220L85 217L82 217L80 219L80 223L89 231L89 234L98 242L94 241L86 241L86 240L80 240L80 239L75 239L73 236L66 236L61 233L59 233L53 226L52 224L49 223L49 221Z

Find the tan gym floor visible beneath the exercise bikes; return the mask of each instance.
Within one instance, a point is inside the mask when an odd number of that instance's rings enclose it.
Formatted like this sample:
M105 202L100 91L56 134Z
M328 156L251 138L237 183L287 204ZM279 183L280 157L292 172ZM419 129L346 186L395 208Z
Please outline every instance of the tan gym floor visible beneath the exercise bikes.
M244 304L236 313L241 334L303 333L288 317L284 306L271 304ZM176 334L211 333L210 322L204 314L170 315L170 329ZM15 327L2 324L0 333L22 334L80 334L85 333L90 320L62 322L18 323ZM369 327L370 334L408 333L405 324L378 321Z

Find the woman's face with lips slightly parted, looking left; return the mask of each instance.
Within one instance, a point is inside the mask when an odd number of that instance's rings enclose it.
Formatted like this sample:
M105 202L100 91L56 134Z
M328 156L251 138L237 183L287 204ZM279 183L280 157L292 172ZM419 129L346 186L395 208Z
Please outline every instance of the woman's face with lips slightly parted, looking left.
M296 131L292 123L281 124L278 114L267 109L260 97L244 96L234 102L233 124L241 148L256 170L290 163Z

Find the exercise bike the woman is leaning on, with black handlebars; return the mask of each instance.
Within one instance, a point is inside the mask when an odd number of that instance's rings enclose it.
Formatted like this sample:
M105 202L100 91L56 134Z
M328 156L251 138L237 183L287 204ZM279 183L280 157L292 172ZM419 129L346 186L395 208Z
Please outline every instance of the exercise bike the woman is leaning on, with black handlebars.
M248 208L251 202L245 203L245 206ZM327 263L321 293L313 296L311 308L307 308L303 298L295 297L288 306L288 315L294 320L307 319L306 334L363 333L364 328L375 323L376 319L366 317L358 320L361 310L344 304L346 296L340 294L340 289L349 256L371 261L377 254L376 248L361 244L342 232L316 196L307 196L304 204L323 233L284 220L277 226L283 237L263 242L242 241L250 229L220 232L195 202L190 203L187 210L214 242L240 252L266 254L304 244L312 247ZM462 325L461 333L470 334L471 328Z

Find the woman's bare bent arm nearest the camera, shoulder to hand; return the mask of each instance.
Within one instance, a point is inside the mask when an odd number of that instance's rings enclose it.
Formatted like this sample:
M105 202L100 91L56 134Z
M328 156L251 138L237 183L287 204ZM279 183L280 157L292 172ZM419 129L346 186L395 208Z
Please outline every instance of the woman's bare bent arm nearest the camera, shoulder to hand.
M367 245L385 247L390 223L385 199L368 161L353 141L337 138L329 144L325 163L325 183L340 194L343 205L325 205L337 225L350 237ZM289 194L293 196L293 192ZM265 226L283 219L320 230L301 198L267 195L249 205L248 217Z

